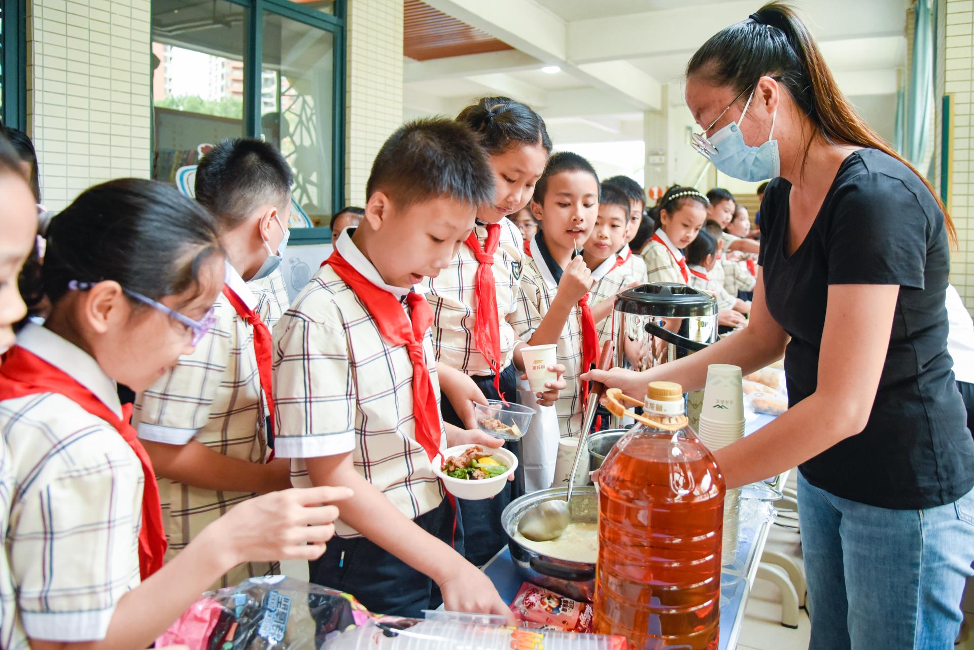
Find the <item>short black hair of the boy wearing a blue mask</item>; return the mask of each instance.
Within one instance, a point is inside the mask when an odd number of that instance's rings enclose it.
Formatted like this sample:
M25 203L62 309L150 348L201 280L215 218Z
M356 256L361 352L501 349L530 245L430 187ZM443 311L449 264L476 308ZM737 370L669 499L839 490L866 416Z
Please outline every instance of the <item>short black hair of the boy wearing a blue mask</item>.
M284 210L294 174L278 147L255 137L220 140L196 169L196 200L222 229L240 225L255 207Z

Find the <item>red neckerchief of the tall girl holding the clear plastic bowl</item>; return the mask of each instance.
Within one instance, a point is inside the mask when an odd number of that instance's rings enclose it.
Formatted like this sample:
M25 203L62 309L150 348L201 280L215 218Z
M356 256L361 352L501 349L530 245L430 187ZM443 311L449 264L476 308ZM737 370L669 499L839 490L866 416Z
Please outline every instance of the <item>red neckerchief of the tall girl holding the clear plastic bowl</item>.
M471 232L465 244L477 259L476 321L473 327L473 343L494 371L494 388L501 400L501 324L497 314L497 283L494 280L494 253L501 242L501 224L487 224L487 240L480 248L476 231Z

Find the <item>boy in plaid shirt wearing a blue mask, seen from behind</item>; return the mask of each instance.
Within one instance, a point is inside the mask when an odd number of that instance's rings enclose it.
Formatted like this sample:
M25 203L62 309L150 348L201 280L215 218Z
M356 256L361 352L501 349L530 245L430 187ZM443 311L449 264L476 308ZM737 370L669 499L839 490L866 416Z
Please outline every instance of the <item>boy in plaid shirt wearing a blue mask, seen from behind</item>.
M258 139L223 140L197 170L196 198L215 217L227 252L216 321L192 353L137 397L134 414L169 504L168 560L227 509L290 486L287 461L271 460L269 449L273 354L261 307L268 296L248 283L267 282L281 263L292 181L281 152ZM280 318L281 309L273 311ZM277 568L245 563L217 587Z

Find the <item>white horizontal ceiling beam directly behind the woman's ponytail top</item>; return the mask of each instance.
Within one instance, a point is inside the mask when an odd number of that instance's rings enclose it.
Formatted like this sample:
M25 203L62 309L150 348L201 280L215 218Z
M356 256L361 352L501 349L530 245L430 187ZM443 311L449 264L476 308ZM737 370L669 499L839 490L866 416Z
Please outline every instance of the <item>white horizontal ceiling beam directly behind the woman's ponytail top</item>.
M820 41L902 36L905 13L878 11L888 0L815 0L801 11ZM623 58L689 54L724 27L747 19L753 0L667 9L584 20L567 24L569 60L576 64Z

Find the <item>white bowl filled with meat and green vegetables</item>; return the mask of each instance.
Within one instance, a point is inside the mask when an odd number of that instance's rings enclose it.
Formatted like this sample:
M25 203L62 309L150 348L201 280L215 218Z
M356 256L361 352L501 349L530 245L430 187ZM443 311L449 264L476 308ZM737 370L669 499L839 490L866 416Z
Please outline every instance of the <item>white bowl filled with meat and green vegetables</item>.
M513 453L481 444L458 444L433 459L433 472L442 479L446 491L469 501L500 494L516 469L517 456Z

